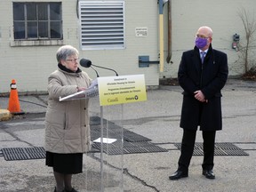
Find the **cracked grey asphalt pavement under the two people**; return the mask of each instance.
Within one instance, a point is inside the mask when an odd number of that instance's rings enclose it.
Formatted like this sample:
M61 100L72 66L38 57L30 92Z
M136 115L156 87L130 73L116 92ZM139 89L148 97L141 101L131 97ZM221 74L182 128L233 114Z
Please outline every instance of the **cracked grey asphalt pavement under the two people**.
M176 171L180 156L174 144L180 143L182 136L181 92L180 86L164 85L148 89L147 101L102 108L103 117L109 122L147 137L168 151L123 156L103 154L103 175L100 153L84 154L84 172L74 175L74 187L82 192L255 192L256 82L228 79L222 91L223 130L217 132L216 142L232 143L249 156L215 156L215 180L202 175L203 156L192 157L188 178L168 179ZM0 109L7 108L8 100L0 97ZM6 161L1 153L3 148L44 146L47 95L20 95L19 100L25 115L0 122L0 191L51 192L55 182L52 169L44 165L44 159ZM99 99L91 99L90 113L100 116ZM196 142L202 141L198 131Z

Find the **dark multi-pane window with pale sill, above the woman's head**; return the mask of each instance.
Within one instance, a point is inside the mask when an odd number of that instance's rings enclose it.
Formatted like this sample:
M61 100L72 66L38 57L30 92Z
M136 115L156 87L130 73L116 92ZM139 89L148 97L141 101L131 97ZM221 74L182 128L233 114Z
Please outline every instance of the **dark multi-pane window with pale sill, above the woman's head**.
M13 3L14 40L62 39L61 3Z

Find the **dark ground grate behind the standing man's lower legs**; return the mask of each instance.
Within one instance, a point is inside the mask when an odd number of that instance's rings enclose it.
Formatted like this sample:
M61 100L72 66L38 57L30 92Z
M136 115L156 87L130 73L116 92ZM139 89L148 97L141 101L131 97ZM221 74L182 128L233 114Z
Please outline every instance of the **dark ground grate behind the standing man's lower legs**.
M174 144L177 148L181 148L181 143ZM242 148L236 147L233 143L215 143L215 156L249 156ZM195 143L193 156L204 156L203 143Z

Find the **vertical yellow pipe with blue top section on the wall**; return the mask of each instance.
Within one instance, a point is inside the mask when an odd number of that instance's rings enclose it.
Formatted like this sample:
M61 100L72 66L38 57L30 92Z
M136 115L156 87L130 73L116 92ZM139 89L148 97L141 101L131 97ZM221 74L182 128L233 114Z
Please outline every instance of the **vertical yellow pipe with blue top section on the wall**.
M164 0L159 0L159 70L164 71Z

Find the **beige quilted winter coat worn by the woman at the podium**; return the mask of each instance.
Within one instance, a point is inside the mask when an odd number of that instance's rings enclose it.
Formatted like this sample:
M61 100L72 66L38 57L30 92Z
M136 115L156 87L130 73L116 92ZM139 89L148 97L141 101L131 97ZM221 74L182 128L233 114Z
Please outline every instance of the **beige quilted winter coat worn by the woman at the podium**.
M68 73L60 68L48 78L48 108L45 115L45 150L53 153L84 153L90 148L89 100L59 101L88 87L92 79L85 73Z

